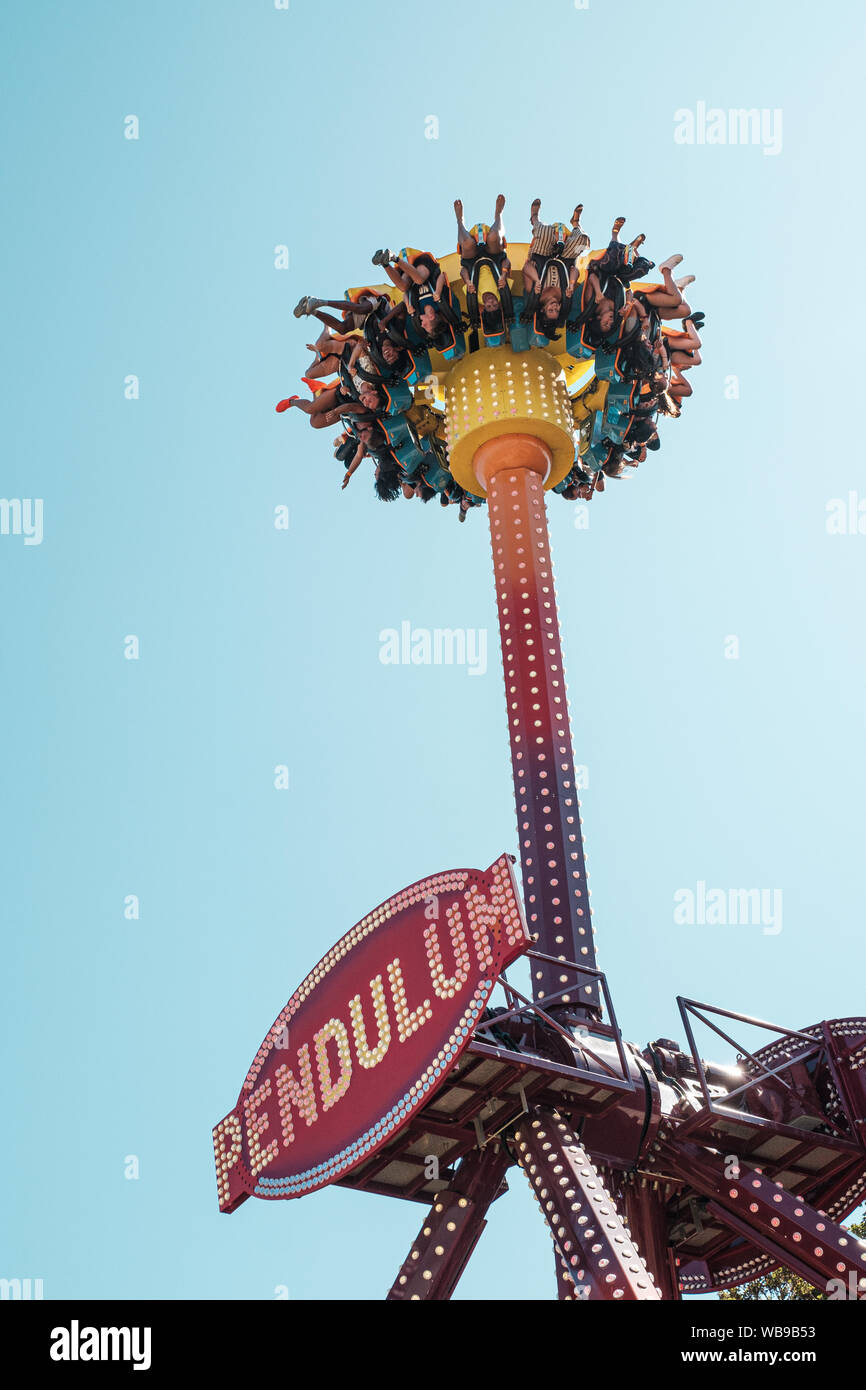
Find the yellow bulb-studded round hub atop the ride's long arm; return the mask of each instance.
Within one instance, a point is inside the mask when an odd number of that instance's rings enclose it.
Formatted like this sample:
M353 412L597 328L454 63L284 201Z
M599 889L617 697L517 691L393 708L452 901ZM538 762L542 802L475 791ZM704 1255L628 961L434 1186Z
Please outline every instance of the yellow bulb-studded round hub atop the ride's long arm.
M449 467L461 488L487 496L475 474L475 452L509 434L532 435L546 445L550 470L545 488L555 488L571 471L574 420L566 374L542 348L481 348L452 367L445 379Z

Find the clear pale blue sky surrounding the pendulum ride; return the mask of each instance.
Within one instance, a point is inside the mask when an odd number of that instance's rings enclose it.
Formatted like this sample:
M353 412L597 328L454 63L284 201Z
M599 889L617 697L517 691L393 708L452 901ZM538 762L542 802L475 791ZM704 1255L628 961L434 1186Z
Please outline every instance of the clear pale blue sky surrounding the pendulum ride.
M379 1298L420 1208L329 1190L220 1216L211 1125L353 922L516 830L498 657L378 660L402 620L492 638L487 518L341 493L327 436L274 414L309 360L292 306L377 246L450 249L457 195L475 220L502 189L514 240L539 193L581 200L595 243L623 213L653 259L685 253L694 399L588 531L550 506L601 965L641 1045L681 1036L678 992L862 1013L866 535L826 530L866 496L838 274L862 7L10 0L0 29L0 495L44 500L42 545L0 535L0 1275ZM699 101L780 108L781 152L677 145ZM699 880L781 888L781 933L674 924ZM516 1175L459 1293L553 1284Z

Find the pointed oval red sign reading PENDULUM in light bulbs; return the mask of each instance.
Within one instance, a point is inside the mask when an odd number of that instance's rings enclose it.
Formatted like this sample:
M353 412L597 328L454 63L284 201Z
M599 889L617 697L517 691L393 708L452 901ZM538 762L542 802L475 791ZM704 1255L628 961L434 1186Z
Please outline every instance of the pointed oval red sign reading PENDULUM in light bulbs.
M531 944L509 855L423 878L352 927L295 991L214 1129L220 1209L303 1197L393 1140Z

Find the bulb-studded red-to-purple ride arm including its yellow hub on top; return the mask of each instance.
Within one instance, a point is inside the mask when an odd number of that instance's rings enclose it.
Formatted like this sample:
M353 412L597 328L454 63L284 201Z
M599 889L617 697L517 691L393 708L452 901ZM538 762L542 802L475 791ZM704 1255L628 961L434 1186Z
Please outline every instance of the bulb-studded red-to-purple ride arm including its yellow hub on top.
M532 992L598 1019L598 980L580 970L596 962L544 499L574 466L564 374L535 348L484 349L452 368L445 407L452 473L488 502L524 906L553 958L532 960Z

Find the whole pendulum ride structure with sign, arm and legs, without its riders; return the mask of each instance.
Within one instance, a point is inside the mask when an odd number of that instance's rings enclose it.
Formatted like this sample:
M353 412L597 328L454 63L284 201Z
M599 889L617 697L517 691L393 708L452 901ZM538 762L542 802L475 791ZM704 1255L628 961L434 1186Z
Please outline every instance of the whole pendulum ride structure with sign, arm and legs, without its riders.
M545 491L598 471L635 384L581 324L556 342L527 328L527 247L509 256L512 317L492 343L457 257L439 260L456 342L442 356L407 325L410 398L389 428L487 503L523 905L503 855L413 884L324 956L214 1130L220 1209L328 1183L418 1202L388 1297L445 1300L520 1168L563 1300L678 1300L778 1265L866 1289L866 1243L840 1226L866 1194L866 1019L777 1027L680 998L687 1047L638 1048L596 966ZM346 313L363 296L382 296L379 317L400 297L349 292ZM521 958L531 998L507 977ZM695 1023L727 1063L702 1059ZM766 1045L737 1042L738 1024Z

